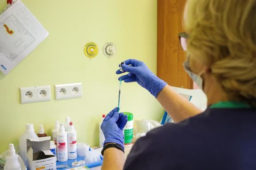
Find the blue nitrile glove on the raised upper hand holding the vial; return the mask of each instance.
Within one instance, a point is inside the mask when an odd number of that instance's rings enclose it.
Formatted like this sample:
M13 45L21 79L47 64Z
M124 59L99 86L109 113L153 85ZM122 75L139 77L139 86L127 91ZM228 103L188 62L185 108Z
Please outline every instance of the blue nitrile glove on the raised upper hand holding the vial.
M119 77L119 80L122 79L126 83L137 82L140 86L146 88L152 95L154 95L155 98L166 86L166 82L159 79L142 61L129 59L124 62L126 64L122 65L123 71L130 73ZM116 71L116 74L121 74L120 69Z

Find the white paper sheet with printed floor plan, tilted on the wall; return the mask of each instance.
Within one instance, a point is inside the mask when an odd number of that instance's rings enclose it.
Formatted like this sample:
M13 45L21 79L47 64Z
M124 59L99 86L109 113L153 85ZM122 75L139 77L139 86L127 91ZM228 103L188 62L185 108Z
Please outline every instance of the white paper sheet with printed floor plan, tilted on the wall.
M15 2L0 15L0 70L7 75L48 34L20 0Z

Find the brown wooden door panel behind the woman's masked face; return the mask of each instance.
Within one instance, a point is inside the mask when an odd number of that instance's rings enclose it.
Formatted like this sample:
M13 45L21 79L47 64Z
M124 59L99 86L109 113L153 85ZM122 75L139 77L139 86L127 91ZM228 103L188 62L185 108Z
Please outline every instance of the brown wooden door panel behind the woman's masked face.
M193 88L183 69L186 53L181 49L178 33L183 30L183 9L186 0L157 2L157 76L171 86Z

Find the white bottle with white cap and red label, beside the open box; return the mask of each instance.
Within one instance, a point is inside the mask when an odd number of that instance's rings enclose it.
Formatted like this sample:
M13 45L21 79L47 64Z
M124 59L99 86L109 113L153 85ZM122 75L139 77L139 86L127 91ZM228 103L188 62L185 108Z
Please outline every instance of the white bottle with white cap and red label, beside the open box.
M67 142L67 134L63 124L61 124L59 132L57 133L57 159L59 162L65 162L68 160Z

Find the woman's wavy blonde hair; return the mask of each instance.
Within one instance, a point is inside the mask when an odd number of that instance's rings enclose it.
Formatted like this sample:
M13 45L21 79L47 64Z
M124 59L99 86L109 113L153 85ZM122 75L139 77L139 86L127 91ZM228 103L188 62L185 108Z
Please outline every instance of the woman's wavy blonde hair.
M187 51L211 68L228 99L256 106L256 0L187 0Z

